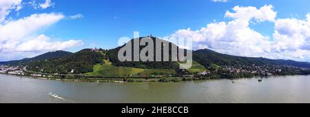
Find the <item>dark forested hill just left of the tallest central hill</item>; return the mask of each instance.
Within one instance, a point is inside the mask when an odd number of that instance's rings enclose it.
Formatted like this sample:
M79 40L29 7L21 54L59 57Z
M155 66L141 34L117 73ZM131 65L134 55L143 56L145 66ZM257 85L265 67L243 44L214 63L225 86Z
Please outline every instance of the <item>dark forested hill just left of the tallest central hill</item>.
M46 61L32 61L27 69L30 71L45 73L69 73L75 74L92 72L96 63L103 63L104 52L96 52L91 49L81 50L69 56ZM73 70L73 71L72 71Z

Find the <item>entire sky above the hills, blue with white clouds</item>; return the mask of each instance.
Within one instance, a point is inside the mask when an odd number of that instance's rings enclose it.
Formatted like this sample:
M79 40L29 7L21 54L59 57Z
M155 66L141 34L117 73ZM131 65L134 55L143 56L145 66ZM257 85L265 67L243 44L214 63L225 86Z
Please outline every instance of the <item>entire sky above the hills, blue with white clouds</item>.
M185 37L194 50L310 62L309 0L0 0L0 61Z

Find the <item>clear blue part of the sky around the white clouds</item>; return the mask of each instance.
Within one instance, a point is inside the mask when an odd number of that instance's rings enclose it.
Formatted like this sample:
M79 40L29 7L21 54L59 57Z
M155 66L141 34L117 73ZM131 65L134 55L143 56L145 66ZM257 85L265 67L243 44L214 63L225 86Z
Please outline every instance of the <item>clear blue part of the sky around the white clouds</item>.
M32 14L61 14L63 17L59 20L57 19L51 24L48 23L46 26L43 25L38 30L30 32L30 35L36 37L43 34L44 37L48 36L51 43L71 39L81 41L82 44L61 48L71 52L76 52L85 47L110 49L117 46L120 37L133 37L134 31L139 31L141 36L152 34L163 37L178 34L176 33L178 30L186 30L187 28L191 29L189 31L194 32L195 30L206 28L211 23L229 23L229 21L234 21L235 18L225 17L225 13L227 11L236 12L233 10L236 6L251 6L259 9L263 6L271 5L273 6L272 10L277 13L276 20L295 18L307 21L306 15L310 12L310 1L308 0L229 0L227 2L214 2L212 0L51 0L52 5L48 8L40 8L39 6L40 3L45 3L45 0L37 0L30 5L29 2L31 1L33 0L21 1L20 6L22 8L20 10L16 10L17 7L10 9L9 14L5 17L6 21L0 22L0 24L6 25L6 22L24 19ZM70 18L70 16L76 14L81 14L83 17L78 19ZM255 17L251 21L255 22ZM273 41L275 40L273 37L275 24L276 21L261 21L250 23L249 28L259 32L262 36L269 36L269 41ZM19 41L19 43L23 43L23 41ZM307 41L309 40L306 38L305 42L307 43ZM8 43L8 41L3 42ZM197 41L197 43L204 42ZM272 43L271 46L273 44L275 43ZM206 42L203 47L239 56L263 56L267 58L310 61L309 54L304 54L307 53L307 50L304 50L301 56L299 54L291 57L287 56L297 51L300 52L299 48L299 50L294 48L295 50L293 51L289 50L289 47L279 47L281 52L275 53L270 50L264 50L267 53L242 54L236 53L238 49L236 51L228 51L220 47L214 47L215 45L214 43ZM18 44L16 46L18 47ZM2 48L6 47L3 46ZM50 50L55 49L52 48ZM0 61L35 56L50 50L21 51L19 54L11 56L6 56L8 52L0 52L2 54L2 56L0 55ZM279 54L279 56L269 56L270 54Z

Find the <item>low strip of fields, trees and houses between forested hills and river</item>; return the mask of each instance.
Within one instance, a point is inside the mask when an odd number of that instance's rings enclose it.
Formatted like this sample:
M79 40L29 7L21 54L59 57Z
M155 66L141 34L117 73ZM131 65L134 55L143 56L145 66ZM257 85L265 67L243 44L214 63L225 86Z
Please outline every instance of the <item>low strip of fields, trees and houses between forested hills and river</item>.
M25 66L2 66L6 72L0 74L10 74L14 76L25 76L53 81L79 81L79 82L97 82L97 83L132 83L132 82L183 82L183 81L205 81L210 79L230 79L236 78L262 78L269 76L292 76L309 75L309 69L287 66L264 66L264 67L227 67L211 65L206 69L202 65L194 62L194 67L189 70L176 70L175 72L156 69L141 69L134 67L117 67L110 61L103 59L102 64L96 64L93 72L85 74L70 73L44 73L28 70ZM213 67L212 67L213 66ZM198 69L197 69L198 68ZM190 72L190 70L194 72ZM262 70L262 71L260 71ZM72 70L73 71L73 70ZM152 71L152 72L150 72ZM105 76L104 74L110 74Z

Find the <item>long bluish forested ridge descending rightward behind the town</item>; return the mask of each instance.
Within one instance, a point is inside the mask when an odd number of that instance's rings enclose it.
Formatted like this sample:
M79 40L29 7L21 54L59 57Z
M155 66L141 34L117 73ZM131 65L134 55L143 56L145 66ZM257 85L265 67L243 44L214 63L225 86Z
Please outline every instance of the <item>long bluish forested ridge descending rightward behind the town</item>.
M194 61L204 65L210 66L212 63L216 65L289 65L295 67L309 67L310 63L298 62L290 60L272 60L268 58L254 58L254 57L242 57L232 56L229 54L221 54L212 50L196 50L193 53Z

